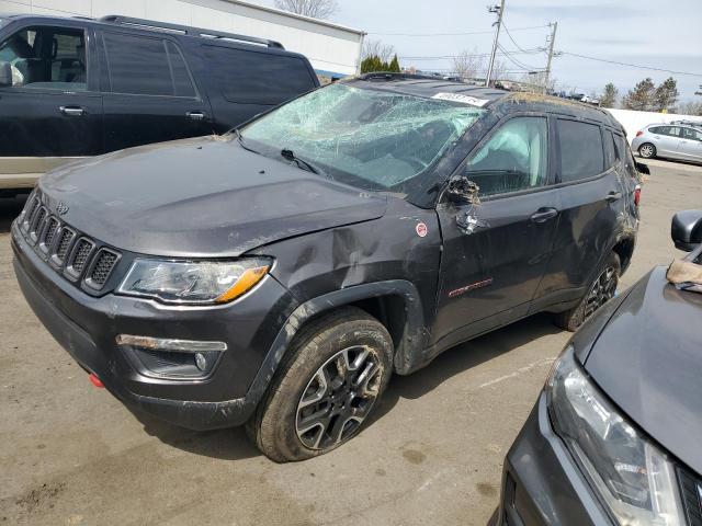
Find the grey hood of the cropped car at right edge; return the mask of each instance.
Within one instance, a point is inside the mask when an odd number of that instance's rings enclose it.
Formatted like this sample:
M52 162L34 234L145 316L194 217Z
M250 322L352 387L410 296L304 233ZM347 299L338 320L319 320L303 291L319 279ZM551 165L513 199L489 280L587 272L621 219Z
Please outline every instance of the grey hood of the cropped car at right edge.
M658 267L621 304L585 361L593 380L639 427L702 473L702 294Z

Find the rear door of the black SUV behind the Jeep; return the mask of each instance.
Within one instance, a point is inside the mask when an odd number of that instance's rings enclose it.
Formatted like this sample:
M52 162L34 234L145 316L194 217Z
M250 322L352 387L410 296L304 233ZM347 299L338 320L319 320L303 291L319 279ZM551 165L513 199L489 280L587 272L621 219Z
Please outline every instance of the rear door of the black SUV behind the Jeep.
M105 30L100 41L106 151L213 133L210 103L176 38Z

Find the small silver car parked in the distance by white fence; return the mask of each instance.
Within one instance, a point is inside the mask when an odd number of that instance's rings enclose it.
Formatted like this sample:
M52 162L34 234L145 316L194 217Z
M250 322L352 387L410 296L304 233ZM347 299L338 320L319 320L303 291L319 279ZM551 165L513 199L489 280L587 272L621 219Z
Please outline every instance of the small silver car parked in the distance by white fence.
M644 159L702 162L702 128L691 124L650 124L636 133L632 149Z

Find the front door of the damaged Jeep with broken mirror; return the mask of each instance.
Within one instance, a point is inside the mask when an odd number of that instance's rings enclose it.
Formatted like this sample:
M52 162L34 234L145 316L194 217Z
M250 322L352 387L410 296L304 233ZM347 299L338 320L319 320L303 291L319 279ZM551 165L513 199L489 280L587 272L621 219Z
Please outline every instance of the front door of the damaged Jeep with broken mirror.
M444 240L438 340L465 340L529 311L558 220L548 142L544 116L503 122L458 173L479 187L479 204L438 207Z

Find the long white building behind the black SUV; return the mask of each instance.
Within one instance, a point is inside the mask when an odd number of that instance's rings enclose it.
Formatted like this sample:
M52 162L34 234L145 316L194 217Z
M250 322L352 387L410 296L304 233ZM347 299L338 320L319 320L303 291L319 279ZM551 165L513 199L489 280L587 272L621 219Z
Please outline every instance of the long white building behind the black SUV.
M0 13L123 14L278 41L320 75L355 75L364 32L241 0L0 0Z

